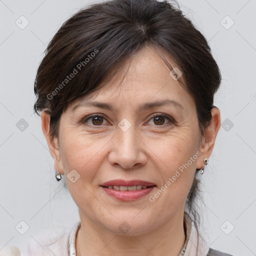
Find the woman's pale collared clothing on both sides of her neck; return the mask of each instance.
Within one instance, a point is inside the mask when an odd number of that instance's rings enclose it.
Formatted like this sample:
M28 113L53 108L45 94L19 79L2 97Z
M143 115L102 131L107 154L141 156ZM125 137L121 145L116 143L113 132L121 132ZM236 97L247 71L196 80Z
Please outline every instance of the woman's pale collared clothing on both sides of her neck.
M21 256L75 256L75 238L80 227L76 222L71 232L43 233L41 238L32 238L21 251ZM212 248L204 249L202 239L189 215L184 212L185 242L178 256L232 256Z

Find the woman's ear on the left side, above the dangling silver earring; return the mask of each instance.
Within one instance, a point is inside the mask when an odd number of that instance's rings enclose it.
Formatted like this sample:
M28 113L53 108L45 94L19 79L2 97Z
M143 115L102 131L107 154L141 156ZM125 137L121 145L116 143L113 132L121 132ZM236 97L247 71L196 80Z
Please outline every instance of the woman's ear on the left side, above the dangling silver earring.
M61 155L58 146L58 138L52 137L50 135L50 115L46 113L44 110L41 111L41 125L42 125L42 132L44 137L46 138L50 154L54 160L54 169L59 171L60 174L63 174L63 165L61 161Z

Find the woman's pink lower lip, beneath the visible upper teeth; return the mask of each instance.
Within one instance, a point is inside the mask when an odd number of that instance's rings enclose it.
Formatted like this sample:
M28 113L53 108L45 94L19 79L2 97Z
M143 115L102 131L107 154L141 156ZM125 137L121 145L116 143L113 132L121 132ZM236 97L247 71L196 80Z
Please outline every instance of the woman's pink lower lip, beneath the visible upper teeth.
M150 191L152 191L156 186L149 186L147 188L143 188L140 190L133 190L133 191L119 191L107 188L105 186L101 186L103 190L106 192L106 194L114 197L115 199L121 200L121 201L134 201L139 199L140 197L148 194Z

